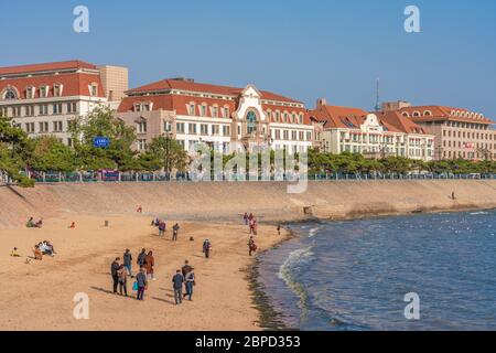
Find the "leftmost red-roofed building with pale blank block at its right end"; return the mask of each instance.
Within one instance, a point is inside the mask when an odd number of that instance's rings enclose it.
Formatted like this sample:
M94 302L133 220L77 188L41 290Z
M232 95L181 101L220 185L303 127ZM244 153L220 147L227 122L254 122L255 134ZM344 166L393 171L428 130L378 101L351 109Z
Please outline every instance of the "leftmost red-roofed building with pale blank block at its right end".
M55 136L72 145L71 120L99 106L117 107L107 95L118 98L127 89L127 75L125 67L80 61L0 67L0 115L32 138Z

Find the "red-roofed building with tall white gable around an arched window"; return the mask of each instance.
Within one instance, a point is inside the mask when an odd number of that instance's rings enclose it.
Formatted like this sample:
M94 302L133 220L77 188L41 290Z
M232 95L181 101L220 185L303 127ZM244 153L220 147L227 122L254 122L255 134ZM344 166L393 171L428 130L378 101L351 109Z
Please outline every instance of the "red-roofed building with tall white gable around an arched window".
M187 152L197 143L230 153L266 145L302 152L312 147L313 126L301 101L259 90L171 78L130 89L117 117L134 126L137 150L169 135Z

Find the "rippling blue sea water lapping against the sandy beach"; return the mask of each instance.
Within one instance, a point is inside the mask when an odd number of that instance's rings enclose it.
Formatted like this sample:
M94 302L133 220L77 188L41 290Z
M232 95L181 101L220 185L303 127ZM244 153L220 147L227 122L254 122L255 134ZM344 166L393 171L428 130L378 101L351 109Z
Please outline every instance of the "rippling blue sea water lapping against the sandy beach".
M296 237L258 267L288 328L496 330L496 211L290 228ZM418 320L406 314L409 293Z

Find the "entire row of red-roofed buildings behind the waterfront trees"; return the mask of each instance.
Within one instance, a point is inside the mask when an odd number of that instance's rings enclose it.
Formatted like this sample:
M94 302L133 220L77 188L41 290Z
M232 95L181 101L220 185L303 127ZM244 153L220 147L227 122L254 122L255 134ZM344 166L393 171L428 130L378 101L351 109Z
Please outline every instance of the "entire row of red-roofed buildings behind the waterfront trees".
M170 78L129 89L126 67L82 61L0 67L0 115L30 137L52 135L72 145L71 121L101 106L136 127L138 151L168 135L188 152L196 143L226 153L265 145L368 158L496 159L493 121L461 108L396 101L365 111L319 99L310 109L254 85L236 88Z

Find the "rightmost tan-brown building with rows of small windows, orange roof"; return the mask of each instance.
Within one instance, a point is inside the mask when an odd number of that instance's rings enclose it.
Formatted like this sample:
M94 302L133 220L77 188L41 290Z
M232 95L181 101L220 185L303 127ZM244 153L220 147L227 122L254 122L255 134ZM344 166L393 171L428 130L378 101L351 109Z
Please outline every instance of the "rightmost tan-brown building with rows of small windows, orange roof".
M384 111L387 106L384 106ZM435 136L435 159L496 159L494 121L482 114L444 106L402 106L395 110Z

